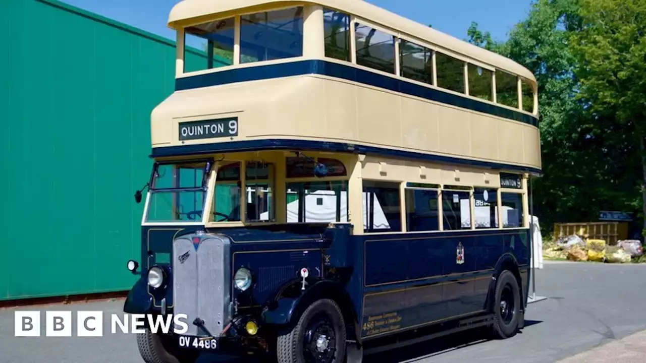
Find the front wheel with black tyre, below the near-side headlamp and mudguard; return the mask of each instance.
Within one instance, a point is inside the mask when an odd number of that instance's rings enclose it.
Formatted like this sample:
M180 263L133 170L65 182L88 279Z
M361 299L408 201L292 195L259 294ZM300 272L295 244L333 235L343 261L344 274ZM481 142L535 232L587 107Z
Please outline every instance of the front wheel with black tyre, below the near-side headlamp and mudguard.
M278 363L342 363L346 356L346 324L336 302L317 300L298 322L278 333Z

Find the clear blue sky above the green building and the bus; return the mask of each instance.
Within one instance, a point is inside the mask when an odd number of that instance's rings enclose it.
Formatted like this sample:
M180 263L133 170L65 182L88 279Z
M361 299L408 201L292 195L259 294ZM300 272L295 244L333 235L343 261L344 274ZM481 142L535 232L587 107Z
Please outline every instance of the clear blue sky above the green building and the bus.
M167 16L179 0L61 0L101 16L174 40L166 27ZM218 0L213 0L218 1ZM368 0L401 16L459 39L466 38L472 21L496 40L506 39L509 30L525 18L531 0Z

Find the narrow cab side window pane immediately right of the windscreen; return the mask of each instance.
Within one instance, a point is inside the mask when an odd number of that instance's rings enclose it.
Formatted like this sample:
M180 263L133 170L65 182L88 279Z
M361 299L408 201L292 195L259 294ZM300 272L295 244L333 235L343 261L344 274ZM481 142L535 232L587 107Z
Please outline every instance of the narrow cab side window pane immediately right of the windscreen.
M240 163L220 165L215 180L211 221L240 221L240 192Z

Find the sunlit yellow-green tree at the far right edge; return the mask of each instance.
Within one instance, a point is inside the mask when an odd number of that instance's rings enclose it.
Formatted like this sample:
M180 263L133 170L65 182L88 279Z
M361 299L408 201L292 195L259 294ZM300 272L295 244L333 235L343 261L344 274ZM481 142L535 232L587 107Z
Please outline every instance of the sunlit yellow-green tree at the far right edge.
M646 228L646 1L580 3L583 26L572 37L581 79L578 99L593 119L614 119L616 137L639 150Z

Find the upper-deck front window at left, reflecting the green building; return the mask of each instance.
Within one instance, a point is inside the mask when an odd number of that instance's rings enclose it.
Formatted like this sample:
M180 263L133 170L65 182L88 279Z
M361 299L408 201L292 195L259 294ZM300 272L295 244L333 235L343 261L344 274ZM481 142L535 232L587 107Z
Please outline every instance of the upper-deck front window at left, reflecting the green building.
M233 65L234 19L185 28L184 72Z

